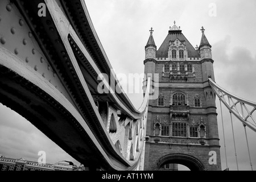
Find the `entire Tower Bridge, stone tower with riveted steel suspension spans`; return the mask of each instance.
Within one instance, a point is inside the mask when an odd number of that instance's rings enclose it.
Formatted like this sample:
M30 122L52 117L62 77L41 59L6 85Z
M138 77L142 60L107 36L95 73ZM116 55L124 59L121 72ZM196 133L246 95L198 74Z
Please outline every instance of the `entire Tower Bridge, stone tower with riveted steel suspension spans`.
M204 27L196 48L176 22L159 49L153 31L137 110L115 78L84 1L2 0L0 102L88 170L183 164L219 171L216 96L253 131L256 104L216 84ZM108 92L98 92L101 83Z

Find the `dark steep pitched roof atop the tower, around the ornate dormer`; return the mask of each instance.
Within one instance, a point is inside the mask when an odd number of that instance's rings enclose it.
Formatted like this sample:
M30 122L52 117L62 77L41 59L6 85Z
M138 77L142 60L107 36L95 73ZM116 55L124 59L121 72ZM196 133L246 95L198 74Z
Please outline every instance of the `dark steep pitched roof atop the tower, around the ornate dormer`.
M181 30L169 31L169 34L164 39L164 42L156 51L156 57L168 57L169 42L173 42L179 39L181 42L185 42L185 46L188 51L188 57L200 57L199 52L189 43L188 39L181 33Z

